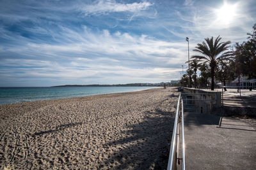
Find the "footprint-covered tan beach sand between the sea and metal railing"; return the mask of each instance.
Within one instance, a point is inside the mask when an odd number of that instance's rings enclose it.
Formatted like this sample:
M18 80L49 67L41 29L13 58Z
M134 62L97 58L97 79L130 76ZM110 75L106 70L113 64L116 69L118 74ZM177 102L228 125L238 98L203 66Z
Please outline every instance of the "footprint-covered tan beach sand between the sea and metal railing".
M176 89L0 105L1 169L166 169Z

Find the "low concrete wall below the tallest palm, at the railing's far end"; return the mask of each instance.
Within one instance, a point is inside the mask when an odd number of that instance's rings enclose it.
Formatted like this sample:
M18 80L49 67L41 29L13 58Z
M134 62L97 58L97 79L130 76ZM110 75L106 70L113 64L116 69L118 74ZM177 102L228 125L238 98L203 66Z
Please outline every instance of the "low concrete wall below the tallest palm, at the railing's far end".
M182 87L181 90L183 91L183 93L191 94L184 96L185 99L189 97L191 97L192 99L201 99L199 101L190 101L191 104L195 104L196 111L200 113L211 113L212 108L221 107L221 92L199 90L186 87Z

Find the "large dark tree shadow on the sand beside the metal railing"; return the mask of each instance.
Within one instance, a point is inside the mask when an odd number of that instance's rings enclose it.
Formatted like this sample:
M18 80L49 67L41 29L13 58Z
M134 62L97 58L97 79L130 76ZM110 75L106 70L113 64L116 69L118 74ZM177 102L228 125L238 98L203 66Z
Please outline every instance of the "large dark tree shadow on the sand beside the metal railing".
M162 110L146 111L147 118L139 124L127 126L126 138L106 143L104 147L115 146L104 164L112 169L166 169L174 113Z

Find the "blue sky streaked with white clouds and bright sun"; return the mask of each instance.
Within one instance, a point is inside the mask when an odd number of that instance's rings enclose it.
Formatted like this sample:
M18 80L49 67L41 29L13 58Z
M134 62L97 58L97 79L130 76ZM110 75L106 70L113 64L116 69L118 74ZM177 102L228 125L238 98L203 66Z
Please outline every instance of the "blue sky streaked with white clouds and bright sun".
M195 55L255 23L255 0L0 0L0 87L179 80L186 37Z

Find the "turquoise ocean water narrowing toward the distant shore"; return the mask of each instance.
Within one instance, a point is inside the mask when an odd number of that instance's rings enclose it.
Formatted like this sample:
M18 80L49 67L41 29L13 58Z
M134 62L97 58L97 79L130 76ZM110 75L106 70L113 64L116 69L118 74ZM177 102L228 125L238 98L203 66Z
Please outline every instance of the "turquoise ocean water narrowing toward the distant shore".
M156 87L0 87L0 104L154 89Z

